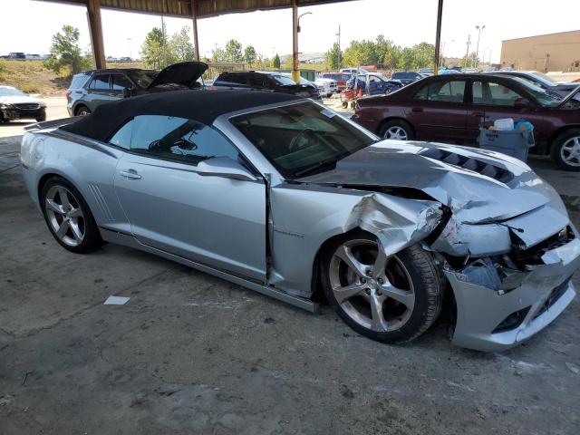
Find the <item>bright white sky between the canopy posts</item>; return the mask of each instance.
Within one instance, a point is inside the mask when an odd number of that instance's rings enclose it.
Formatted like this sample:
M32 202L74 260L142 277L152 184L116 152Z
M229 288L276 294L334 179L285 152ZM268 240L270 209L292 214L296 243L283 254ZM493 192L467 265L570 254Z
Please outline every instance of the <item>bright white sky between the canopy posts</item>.
M441 41L443 55L465 55L470 35L475 51L478 31L482 59L499 61L501 41L505 39L550 34L580 29L580 0L550 0L546 14L545 0L445 0ZM301 53L327 51L336 41L339 24L341 45L353 40L374 39L383 34L402 46L423 41L435 42L437 0L356 0L334 5L301 7L299 35ZM150 29L160 26L160 16L102 10L105 54L140 57L140 45ZM168 34L190 24L188 19L164 18ZM80 44L88 48L90 36L85 8L82 6L36 2L34 0L0 0L0 54L9 52L49 53L52 35L63 24L72 24L81 32ZM290 9L247 14L228 14L198 21L199 48L210 56L216 45L237 39L250 44L258 53L271 57L292 53L292 11Z

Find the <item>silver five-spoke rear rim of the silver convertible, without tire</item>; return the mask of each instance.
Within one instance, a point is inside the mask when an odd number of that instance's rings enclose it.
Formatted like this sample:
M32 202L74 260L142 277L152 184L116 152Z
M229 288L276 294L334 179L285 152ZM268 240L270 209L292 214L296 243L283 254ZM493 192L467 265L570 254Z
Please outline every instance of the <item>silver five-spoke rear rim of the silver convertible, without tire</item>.
M46 217L54 234L65 245L78 247L84 238L85 220L73 193L63 186L53 186L44 199Z

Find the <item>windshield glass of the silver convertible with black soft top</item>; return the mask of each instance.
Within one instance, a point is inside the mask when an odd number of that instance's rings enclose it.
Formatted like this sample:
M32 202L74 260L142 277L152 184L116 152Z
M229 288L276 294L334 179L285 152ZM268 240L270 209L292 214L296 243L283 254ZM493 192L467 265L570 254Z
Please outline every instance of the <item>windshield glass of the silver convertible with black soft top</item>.
M286 179L333 169L378 140L333 111L303 102L230 120Z

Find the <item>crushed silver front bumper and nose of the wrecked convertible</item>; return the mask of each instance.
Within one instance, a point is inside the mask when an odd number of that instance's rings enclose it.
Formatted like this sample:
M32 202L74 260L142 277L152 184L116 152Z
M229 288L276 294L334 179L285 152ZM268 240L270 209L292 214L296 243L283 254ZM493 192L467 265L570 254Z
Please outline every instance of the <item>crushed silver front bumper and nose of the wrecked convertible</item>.
M455 254L469 247L466 255L449 256L451 232L461 237ZM440 237L431 248L440 250L435 255L455 296L454 344L508 349L550 324L575 297L571 276L580 266L580 240L554 208L493 224L448 223Z

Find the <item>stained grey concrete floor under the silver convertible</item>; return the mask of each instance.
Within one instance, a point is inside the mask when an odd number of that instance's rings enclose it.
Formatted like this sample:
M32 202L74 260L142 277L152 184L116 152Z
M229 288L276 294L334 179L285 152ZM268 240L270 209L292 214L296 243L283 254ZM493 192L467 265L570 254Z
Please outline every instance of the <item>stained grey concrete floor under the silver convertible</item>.
M328 306L124 247L65 251L10 169L18 140L0 139L0 433L578 433L578 299L506 353L452 346L445 319L374 343ZM579 175L531 163L580 223Z

